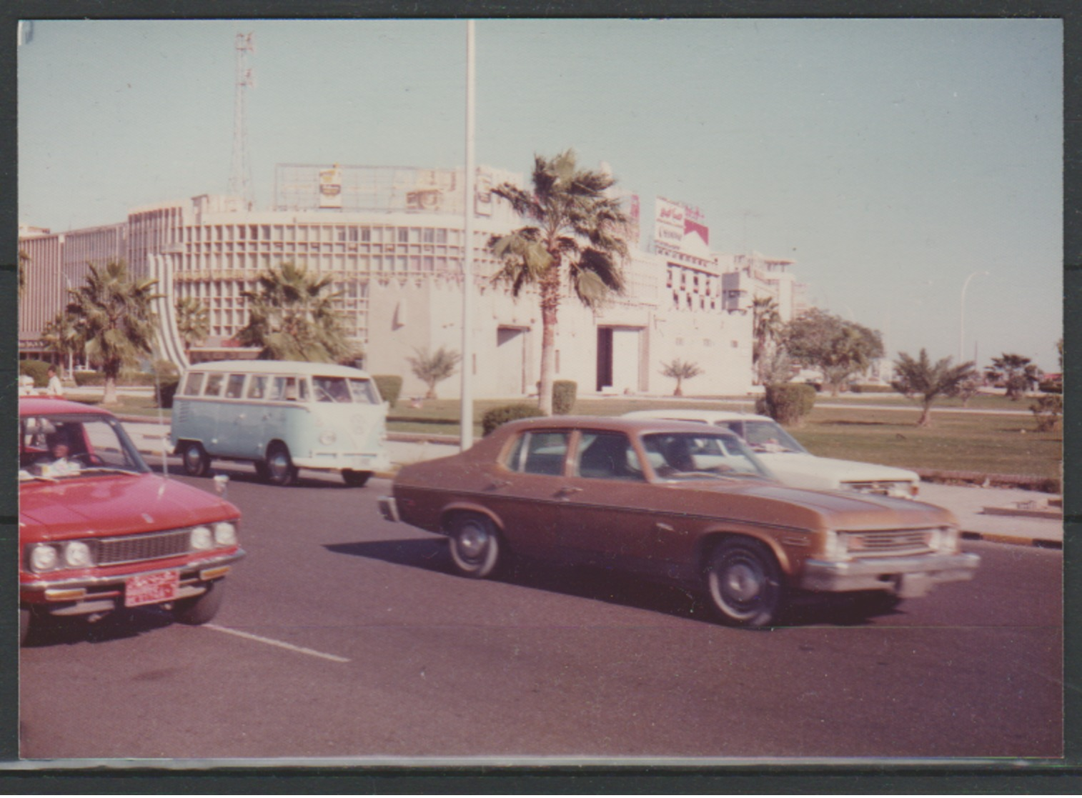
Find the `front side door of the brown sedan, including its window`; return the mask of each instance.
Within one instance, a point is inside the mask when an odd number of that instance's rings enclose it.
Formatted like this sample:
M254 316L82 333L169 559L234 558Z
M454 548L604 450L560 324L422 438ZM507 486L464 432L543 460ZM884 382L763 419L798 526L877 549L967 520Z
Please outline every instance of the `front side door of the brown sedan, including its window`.
M642 462L623 433L580 430L560 487L562 545L592 564L651 570L657 514Z

